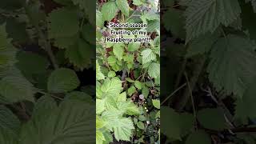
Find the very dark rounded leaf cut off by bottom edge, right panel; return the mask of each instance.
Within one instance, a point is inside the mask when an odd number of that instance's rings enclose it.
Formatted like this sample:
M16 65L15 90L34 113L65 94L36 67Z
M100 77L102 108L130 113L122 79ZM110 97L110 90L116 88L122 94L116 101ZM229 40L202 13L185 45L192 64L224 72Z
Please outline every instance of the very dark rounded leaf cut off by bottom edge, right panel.
M205 131L198 130L186 138L186 144L211 144L211 138Z

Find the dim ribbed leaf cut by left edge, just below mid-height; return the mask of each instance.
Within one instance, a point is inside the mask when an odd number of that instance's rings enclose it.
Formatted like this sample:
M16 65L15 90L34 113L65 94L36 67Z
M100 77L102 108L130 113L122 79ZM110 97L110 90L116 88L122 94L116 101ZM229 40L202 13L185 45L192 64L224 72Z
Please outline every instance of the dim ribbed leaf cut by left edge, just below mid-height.
M0 95L8 102L34 102L34 86L22 74L9 75L0 81Z

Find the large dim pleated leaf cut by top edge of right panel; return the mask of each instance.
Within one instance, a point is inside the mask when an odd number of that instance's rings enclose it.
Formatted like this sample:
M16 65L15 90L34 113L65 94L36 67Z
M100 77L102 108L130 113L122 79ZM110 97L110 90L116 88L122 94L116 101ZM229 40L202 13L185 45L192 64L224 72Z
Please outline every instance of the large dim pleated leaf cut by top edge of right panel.
M241 13L238 0L198 0L186 9L186 42L200 34L214 32L222 24L229 26Z

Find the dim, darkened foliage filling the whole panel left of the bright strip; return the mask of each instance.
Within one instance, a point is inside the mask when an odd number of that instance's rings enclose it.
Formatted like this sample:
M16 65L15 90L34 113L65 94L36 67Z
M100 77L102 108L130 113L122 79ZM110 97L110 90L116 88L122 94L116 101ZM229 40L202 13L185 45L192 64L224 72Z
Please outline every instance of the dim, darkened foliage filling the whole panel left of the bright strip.
M0 143L95 142L88 2L0 2Z

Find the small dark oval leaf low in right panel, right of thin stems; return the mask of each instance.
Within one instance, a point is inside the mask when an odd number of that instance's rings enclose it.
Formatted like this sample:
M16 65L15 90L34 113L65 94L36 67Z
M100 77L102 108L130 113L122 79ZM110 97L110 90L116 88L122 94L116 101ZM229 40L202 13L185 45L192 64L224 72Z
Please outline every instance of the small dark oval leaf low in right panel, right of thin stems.
M198 122L210 130L224 130L228 128L226 119L221 110L206 108L198 111Z

